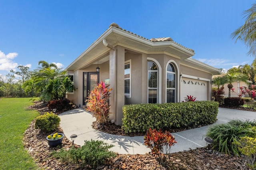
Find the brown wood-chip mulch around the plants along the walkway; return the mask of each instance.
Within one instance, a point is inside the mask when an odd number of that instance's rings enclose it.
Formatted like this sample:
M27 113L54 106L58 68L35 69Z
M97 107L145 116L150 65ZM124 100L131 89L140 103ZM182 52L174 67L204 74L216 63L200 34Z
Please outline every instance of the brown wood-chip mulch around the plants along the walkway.
M41 114L49 112L47 105L36 102L30 109L37 109ZM61 113L61 112L60 112ZM56 113L59 114L59 113ZM96 125L97 126L97 125ZM107 128L106 126L105 128ZM113 129L107 128L107 129ZM120 129L120 127L117 127ZM108 130L109 131L109 130ZM53 150L60 150L63 148L68 150L72 146L66 136L63 138L62 145L56 148L50 148L47 144L46 136L55 132L63 132L59 127L53 132L42 132L41 130L34 129L34 121L30 124L29 128L24 132L23 143L28 153L32 156L40 168L47 170L86 170L92 169L90 167L79 167L78 165L60 162L56 158L52 158L50 153ZM120 130L116 130L115 134L123 134ZM124 135L124 134L123 134ZM138 135L138 134L130 134ZM80 147L75 145L75 147ZM172 147L175 147L172 146ZM130 155L130 154L117 154L115 158L111 158L104 165L100 165L100 170L242 170L244 169L245 158L229 156L219 152L208 152L206 148L198 148L195 150L176 152L170 154L168 165L164 168L159 164L157 158L152 154L145 155Z

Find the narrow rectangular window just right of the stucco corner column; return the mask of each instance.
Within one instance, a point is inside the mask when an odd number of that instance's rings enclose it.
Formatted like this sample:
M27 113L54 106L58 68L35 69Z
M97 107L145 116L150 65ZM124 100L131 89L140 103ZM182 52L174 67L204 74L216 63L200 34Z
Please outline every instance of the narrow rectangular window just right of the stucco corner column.
M131 60L124 64L124 96L131 97Z

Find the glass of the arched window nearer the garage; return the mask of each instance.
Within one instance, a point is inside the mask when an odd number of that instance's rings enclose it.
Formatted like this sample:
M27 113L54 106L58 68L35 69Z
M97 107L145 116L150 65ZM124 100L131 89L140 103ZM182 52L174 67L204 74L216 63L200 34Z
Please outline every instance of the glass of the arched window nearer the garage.
M175 68L172 63L169 63L167 66L167 75L166 75L166 102L175 103L175 94L176 94L176 76Z

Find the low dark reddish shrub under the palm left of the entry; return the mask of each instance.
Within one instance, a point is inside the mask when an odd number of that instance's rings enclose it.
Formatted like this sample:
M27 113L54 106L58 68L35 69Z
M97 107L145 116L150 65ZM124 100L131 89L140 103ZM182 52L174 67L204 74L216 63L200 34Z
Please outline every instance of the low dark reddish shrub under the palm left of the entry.
M59 100L53 100L48 102L48 109L56 109L57 111L61 111L62 109L71 109L73 103L70 100L64 98Z

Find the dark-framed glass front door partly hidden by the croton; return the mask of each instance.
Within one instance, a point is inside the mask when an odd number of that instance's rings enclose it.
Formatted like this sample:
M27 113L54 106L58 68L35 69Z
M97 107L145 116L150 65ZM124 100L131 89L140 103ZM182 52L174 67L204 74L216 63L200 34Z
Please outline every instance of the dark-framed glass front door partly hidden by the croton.
M88 97L88 93L99 83L100 75L99 72L84 72L83 79L83 105L86 105L85 101Z

